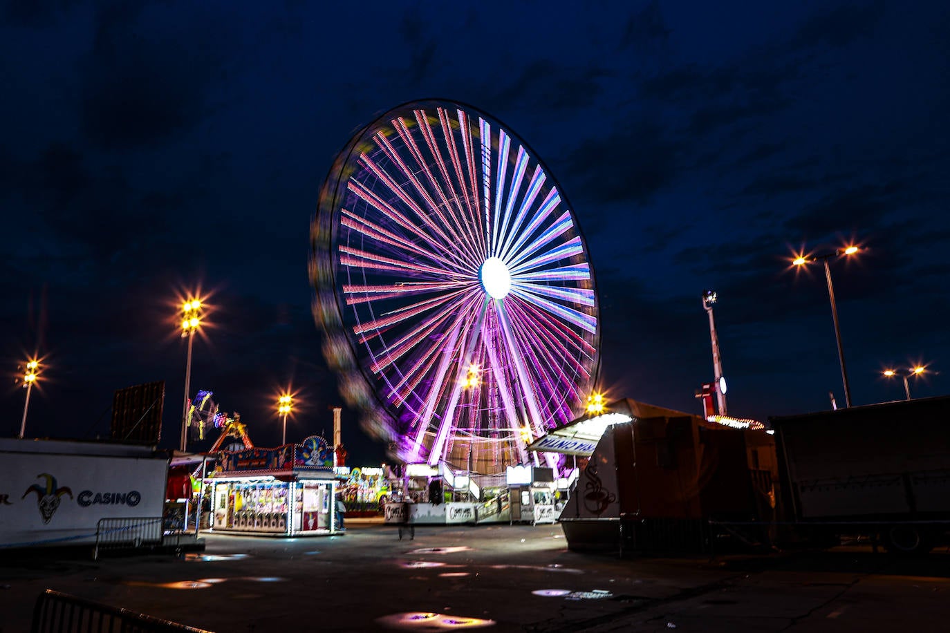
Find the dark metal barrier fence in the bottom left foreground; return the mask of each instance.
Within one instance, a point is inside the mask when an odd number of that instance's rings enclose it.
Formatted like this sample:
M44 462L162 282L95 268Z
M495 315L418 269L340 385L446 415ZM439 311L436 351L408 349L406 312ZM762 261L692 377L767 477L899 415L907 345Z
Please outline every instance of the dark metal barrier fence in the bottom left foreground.
M47 589L36 599L30 633L212 633L122 607Z

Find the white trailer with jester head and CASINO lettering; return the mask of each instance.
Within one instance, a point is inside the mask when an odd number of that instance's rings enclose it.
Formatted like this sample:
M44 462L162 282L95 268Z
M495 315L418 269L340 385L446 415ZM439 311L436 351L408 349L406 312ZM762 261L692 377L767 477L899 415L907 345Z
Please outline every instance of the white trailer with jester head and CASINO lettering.
M161 517L168 461L147 446L0 438L0 548L94 544L101 519Z

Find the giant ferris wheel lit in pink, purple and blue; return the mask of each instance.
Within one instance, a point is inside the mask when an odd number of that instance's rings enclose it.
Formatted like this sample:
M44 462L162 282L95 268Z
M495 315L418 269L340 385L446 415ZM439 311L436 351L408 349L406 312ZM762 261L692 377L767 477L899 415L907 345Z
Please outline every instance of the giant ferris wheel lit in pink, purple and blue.
M499 121L457 102L393 108L337 156L311 233L324 353L396 457L538 464L526 446L583 409L599 367L586 244Z

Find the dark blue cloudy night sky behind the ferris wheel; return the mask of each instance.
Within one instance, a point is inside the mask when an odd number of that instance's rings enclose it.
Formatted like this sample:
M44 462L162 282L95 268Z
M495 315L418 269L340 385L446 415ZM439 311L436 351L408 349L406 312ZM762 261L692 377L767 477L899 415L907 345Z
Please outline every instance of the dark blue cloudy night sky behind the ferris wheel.
M790 260L850 243L831 272L852 403L903 398L881 373L909 363L933 370L913 396L950 391L944 2L15 0L0 18L0 435L36 351L28 437L107 435L116 389L165 381L177 447L189 289L211 305L192 392L273 446L292 385L288 438L331 434L319 189L357 128L430 97L504 121L560 182L610 397L700 412L715 289L731 414L843 404L824 272ZM351 463L378 463L343 420Z

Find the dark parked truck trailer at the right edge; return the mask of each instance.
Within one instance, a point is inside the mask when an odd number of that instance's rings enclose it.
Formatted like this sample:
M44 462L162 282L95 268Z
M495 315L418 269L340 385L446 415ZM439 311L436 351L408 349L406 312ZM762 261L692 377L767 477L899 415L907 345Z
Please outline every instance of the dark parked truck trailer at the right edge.
M798 533L922 553L950 529L950 397L769 418Z

